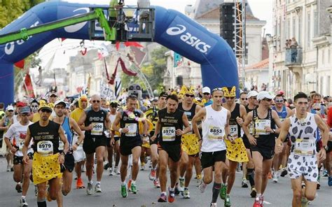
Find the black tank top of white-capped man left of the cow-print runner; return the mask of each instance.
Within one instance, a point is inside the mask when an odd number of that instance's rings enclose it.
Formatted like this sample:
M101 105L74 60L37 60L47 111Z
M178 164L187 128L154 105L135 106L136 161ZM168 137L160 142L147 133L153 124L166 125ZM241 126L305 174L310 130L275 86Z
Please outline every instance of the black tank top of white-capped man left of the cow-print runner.
M270 120L271 129L275 129L275 120L272 118L272 109L268 109L268 115L265 118L258 117L257 108L253 110L252 122L254 124L253 136L257 139L257 145L259 146L275 146L275 134L264 134L264 132L260 131L262 127L259 127L257 120ZM263 133L263 134L262 134Z

